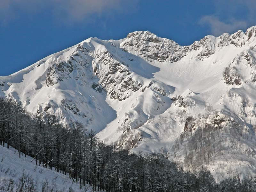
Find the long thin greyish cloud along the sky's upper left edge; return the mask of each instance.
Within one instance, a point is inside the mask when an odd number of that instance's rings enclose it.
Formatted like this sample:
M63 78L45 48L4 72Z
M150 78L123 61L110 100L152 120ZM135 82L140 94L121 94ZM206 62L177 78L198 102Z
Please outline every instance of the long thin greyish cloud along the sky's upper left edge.
M86 17L110 15L134 8L137 0L1 0L0 23L7 23L21 14L39 14L47 10L58 21L81 21Z

